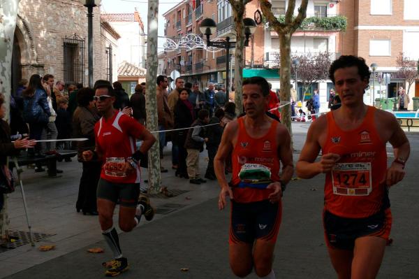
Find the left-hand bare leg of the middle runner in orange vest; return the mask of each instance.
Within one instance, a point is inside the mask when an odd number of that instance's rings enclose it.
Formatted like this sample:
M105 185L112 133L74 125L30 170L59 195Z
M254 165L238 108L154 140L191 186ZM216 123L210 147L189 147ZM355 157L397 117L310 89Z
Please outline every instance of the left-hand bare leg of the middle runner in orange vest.
M253 269L251 250L251 243L230 243L230 268L235 276L244 278L251 273Z

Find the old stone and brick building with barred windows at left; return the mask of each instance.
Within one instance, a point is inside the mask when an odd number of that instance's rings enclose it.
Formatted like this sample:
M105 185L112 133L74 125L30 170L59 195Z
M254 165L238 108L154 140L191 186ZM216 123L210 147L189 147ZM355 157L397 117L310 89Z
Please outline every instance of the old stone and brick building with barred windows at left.
M100 1L98 1L100 2ZM116 75L109 48L117 50L119 34L94 8L94 80ZM13 48L13 90L21 78L51 73L55 80L87 85L87 8L79 0L21 0ZM113 73L113 75L111 74ZM116 79L115 79L116 80Z

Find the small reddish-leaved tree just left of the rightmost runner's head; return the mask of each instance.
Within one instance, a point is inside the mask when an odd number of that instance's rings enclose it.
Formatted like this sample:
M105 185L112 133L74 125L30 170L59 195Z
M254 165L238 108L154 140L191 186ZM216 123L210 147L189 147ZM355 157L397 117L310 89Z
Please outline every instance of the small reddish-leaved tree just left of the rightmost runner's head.
M313 83L321 80L328 80L329 68L332 64L330 53L304 53L302 55L294 55L293 59L298 59L300 66L298 67L298 79L301 80L304 93L309 90ZM295 69L293 68L294 72ZM295 73L294 73L295 74Z

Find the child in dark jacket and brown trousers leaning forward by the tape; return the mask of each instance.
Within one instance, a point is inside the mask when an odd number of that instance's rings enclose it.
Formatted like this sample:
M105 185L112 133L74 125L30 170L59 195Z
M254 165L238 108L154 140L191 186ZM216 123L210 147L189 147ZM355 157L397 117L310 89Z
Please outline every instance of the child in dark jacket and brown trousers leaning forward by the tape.
M204 143L208 141L205 136L205 126L210 121L210 113L203 109L198 113L198 119L195 120L188 130L186 136L185 148L188 152L186 157L186 168L188 170L189 183L201 184L207 180L199 177L199 153L204 151Z

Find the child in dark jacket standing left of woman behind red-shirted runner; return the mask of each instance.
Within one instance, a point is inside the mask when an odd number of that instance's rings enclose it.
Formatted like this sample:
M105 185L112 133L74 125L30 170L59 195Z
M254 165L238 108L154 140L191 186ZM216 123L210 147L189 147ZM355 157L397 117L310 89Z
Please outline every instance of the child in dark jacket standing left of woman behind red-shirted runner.
M55 126L57 126L58 136L57 139L71 138L71 115L67 111L68 100L61 98L58 101L57 118L55 119ZM57 149L69 150L70 141L59 141ZM70 158L66 158L66 162L71 162Z

